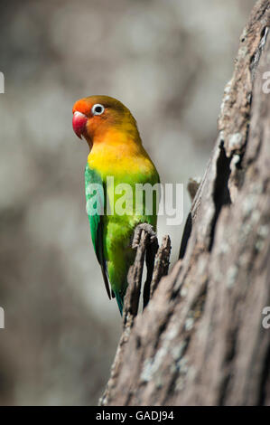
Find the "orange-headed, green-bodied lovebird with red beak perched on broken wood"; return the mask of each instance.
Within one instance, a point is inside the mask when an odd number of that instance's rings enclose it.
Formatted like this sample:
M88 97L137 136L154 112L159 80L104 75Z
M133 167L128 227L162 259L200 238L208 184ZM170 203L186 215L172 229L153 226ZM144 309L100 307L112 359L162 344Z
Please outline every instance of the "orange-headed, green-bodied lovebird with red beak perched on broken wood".
M89 96L79 99L72 112L74 132L89 146L85 190L91 239L107 295L116 297L122 315L127 273L135 260L135 229L144 228L153 236L157 222L156 192L153 211L148 211L145 196L135 199L135 185L153 186L160 178L144 149L135 118L123 103L108 96ZM93 184L101 189L93 191ZM126 193L124 213L116 211L123 194L117 192L118 184L132 189L132 194ZM94 194L96 203L91 203ZM147 223L146 227L142 223Z

